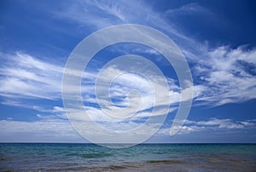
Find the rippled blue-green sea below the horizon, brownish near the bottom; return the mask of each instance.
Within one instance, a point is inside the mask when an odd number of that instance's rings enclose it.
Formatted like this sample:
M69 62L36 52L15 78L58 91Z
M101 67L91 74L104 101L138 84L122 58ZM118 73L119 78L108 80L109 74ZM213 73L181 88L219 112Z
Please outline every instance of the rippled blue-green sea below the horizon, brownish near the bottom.
M0 171L256 171L256 144L0 143Z

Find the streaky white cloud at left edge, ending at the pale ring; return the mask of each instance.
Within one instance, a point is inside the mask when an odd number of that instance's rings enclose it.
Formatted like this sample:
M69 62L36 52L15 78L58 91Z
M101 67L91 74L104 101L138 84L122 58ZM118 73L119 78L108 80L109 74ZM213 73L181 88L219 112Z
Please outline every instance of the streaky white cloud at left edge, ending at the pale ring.
M61 97L62 67L38 60L29 54L1 54L0 95L10 99Z

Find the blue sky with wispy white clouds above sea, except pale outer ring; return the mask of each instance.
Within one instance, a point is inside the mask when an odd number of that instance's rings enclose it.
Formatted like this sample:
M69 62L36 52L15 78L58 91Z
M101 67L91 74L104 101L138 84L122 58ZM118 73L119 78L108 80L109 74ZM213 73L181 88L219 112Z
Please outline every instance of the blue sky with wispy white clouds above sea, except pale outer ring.
M255 8L250 0L1 1L0 141L90 142L82 135L113 136L94 130L91 119L104 129L125 132L146 122L154 111L154 122L164 121L146 142L255 143ZM184 124L174 126L180 129L177 135L169 132L183 92L175 66L158 50L140 43L116 43L93 56L79 75L83 111L90 117L83 118L86 131L73 127L71 117L67 118L66 111L72 112L72 118L84 117L79 108L63 105L62 76L70 54L90 34L122 24L149 26L164 33L189 65L192 106ZM119 58L122 55L128 56ZM109 63L115 59L120 62ZM154 73L154 66L161 77ZM125 72L125 67L140 75ZM102 82L99 95L97 81ZM122 121L104 112L131 118ZM138 135L156 129L155 124L148 123Z

